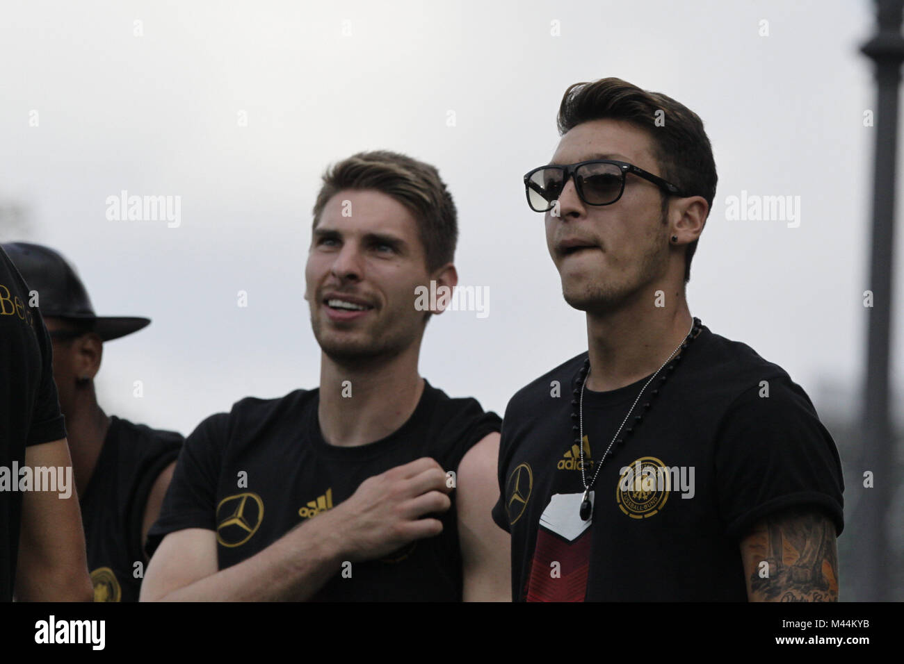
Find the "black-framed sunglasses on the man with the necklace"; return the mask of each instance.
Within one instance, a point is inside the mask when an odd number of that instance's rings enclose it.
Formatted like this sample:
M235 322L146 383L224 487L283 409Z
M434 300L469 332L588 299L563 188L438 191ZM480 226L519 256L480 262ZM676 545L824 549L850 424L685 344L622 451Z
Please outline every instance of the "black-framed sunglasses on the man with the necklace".
M548 164L524 175L527 204L535 212L552 210L565 188L565 183L570 177L574 177L574 187L581 201L588 205L611 205L625 192L627 173L634 173L649 180L673 196L685 195L671 182L665 182L661 177L648 173L634 164L611 159L593 159L579 164Z

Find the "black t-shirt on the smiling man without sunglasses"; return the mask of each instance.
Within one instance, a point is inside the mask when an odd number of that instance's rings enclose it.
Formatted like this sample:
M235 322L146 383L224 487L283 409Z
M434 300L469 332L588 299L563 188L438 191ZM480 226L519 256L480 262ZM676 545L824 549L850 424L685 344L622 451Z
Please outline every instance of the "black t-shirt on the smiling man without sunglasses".
M456 471L465 453L501 421L473 398L449 398L425 380L408 421L380 441L327 444L317 420L319 391L246 398L230 414L208 417L188 437L148 534L148 553L174 530L217 533L220 569L273 544L291 528L338 505L369 477L432 457ZM453 494L454 495L454 494ZM457 601L462 596L455 500L443 532L381 560L335 575L315 600ZM347 570L347 568L346 568Z

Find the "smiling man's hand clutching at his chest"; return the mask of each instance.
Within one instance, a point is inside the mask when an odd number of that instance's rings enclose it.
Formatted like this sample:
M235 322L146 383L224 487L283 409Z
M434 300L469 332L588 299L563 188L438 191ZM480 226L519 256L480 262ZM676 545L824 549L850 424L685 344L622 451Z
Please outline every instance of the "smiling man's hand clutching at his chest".
M416 539L443 531L439 519L425 518L452 505L446 472L428 457L396 466L361 483L351 498L317 517L336 547L353 562L387 556Z

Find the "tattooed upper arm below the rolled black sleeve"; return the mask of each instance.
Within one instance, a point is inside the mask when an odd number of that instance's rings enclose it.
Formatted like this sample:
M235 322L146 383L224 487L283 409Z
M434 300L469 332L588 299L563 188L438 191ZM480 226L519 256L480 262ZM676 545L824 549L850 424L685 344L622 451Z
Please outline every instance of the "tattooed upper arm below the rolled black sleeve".
M818 510L768 516L741 541L741 556L753 602L838 601L835 528Z

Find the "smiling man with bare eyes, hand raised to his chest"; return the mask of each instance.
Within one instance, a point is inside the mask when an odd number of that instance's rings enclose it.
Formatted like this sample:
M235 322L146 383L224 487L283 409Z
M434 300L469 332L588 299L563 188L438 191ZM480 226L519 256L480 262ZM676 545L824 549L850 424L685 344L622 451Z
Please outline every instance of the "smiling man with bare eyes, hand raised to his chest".
M445 304L415 294L457 284L456 240L433 166L380 151L325 173L305 272L320 386L243 399L188 437L143 601L508 600L500 419L418 372Z

